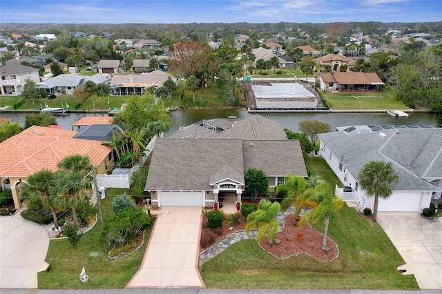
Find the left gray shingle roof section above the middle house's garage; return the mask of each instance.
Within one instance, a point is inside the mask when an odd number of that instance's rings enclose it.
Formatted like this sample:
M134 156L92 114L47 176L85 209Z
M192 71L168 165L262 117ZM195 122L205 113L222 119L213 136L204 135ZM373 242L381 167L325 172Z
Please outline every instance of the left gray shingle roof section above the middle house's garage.
M208 190L225 164L242 173L240 139L157 139L146 190Z

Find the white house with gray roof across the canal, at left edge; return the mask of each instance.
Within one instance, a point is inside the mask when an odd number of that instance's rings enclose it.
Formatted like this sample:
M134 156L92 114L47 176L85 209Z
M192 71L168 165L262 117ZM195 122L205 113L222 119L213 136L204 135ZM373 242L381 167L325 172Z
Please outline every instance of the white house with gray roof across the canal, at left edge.
M40 82L39 69L31 66L23 66L19 63L11 62L0 67L0 92L1 96L18 96L23 92L26 79Z

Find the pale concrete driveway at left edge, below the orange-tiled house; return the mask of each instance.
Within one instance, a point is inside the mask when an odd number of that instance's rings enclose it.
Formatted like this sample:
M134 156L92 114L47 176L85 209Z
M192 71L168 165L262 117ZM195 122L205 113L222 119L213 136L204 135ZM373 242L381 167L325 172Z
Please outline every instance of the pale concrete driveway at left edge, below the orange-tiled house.
M20 212L0 217L0 288L37 288L37 273L48 268L48 233Z

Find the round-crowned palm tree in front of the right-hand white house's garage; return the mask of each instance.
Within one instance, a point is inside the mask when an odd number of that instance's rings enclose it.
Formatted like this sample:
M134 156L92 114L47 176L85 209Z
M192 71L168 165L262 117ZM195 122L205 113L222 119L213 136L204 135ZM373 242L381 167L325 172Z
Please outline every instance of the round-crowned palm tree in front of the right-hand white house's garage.
M379 197L387 199L392 195L390 184L399 182L399 176L391 162L374 160L367 162L359 172L359 184L367 196L374 196L373 222L378 218Z

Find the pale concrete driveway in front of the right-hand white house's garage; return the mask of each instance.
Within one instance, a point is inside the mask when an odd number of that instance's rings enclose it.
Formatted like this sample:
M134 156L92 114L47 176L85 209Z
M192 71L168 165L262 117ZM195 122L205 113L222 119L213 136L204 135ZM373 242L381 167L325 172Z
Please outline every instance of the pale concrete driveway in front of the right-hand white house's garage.
M396 246L419 287L442 289L442 217L378 213L378 223Z

